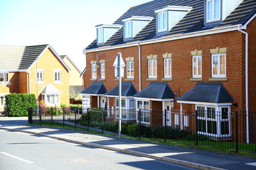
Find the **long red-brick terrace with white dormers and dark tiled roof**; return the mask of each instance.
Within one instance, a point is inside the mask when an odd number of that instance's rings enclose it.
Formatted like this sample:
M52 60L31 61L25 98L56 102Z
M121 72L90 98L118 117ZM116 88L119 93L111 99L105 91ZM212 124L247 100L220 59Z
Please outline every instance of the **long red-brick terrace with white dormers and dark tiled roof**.
M96 26L84 50L84 106L119 106L113 63L121 52L122 108L214 113L201 114L202 134L230 134L221 127L231 112L256 111L255 12L255 0L156 0Z

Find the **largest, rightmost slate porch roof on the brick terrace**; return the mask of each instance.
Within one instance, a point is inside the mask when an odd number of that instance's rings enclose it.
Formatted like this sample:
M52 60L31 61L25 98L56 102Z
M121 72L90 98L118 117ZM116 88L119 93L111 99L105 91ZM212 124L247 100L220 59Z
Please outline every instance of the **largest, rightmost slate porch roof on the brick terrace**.
M232 103L233 98L221 83L201 82L191 91L181 95L177 101L199 101L207 103Z

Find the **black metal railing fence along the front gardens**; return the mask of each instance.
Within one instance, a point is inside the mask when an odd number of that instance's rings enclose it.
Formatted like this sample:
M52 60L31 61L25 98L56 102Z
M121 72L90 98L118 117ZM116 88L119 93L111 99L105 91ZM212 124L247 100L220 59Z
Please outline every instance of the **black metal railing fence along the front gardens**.
M234 152L256 152L256 113L244 111L180 111L122 109L122 135L205 145ZM118 109L29 108L29 123L82 125L102 133L118 133Z

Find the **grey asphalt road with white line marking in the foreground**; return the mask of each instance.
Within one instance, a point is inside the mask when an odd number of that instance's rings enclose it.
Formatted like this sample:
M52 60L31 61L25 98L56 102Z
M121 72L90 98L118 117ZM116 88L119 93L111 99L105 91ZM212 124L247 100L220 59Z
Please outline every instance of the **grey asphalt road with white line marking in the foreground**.
M145 157L0 130L0 169L191 169Z

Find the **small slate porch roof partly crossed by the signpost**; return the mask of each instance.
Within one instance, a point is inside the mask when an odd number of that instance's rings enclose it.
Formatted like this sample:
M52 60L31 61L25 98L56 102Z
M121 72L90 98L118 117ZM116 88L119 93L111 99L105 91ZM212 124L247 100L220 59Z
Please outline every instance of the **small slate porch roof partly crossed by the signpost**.
M122 93L121 96L134 96L134 94L137 94L136 89L134 88L134 85L132 82L122 82ZM119 84L115 86L110 91L107 91L105 93L106 96L119 96Z

